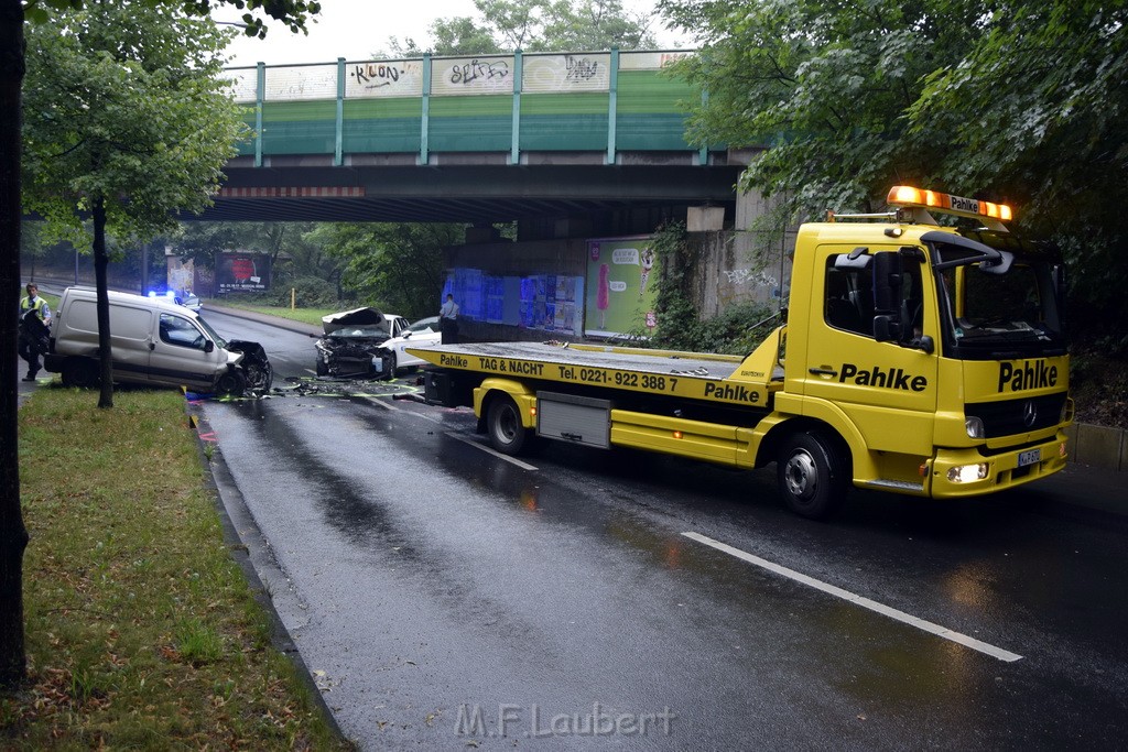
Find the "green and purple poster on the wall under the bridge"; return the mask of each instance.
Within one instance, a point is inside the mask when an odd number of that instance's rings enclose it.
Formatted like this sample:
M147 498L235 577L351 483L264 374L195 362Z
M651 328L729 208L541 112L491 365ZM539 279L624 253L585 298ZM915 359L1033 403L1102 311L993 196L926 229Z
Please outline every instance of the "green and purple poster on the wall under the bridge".
M653 239L588 241L588 299L584 334L592 337L650 336L654 316Z

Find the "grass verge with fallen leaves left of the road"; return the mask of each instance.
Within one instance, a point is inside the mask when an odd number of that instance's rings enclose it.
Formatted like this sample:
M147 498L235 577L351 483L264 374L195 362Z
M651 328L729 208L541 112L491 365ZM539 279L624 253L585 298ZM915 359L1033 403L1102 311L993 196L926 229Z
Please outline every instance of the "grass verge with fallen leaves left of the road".
M0 747L349 750L231 558L184 398L41 388L19 412L29 680Z

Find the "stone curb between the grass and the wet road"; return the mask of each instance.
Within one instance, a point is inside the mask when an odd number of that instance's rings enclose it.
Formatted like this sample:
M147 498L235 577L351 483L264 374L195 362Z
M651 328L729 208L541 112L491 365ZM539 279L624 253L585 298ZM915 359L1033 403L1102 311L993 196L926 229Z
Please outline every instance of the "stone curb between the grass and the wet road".
M301 656L297 643L294 643L275 607L274 599L280 596L282 591L292 595L290 577L279 565L266 536L259 530L254 514L244 502L239 486L223 461L222 452L217 451L219 442L215 439L215 432L212 431L206 418L201 415L195 402L186 400L185 412L188 417L188 427L196 434L196 449L201 467L204 470L204 484L215 499L215 512L219 514L223 530L223 545L227 546L231 558L239 565L243 575L247 578L255 601L271 619L271 644L293 664L298 676L320 708L321 715L333 733L338 738L350 742L341 729L333 710L325 701L312 672ZM208 445L215 449L209 452L205 449Z

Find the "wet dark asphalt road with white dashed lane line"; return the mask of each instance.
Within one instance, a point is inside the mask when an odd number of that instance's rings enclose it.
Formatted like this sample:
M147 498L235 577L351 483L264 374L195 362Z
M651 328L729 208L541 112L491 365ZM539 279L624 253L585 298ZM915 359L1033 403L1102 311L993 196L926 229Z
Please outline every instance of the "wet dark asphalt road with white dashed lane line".
M1069 505L1128 505L1114 476L946 505L855 492L812 523L773 468L558 444L521 467L469 410L393 399L411 378L305 391L285 377L312 380L312 339L205 316L274 364L273 397L201 410L277 611L363 749L1128 738L1128 517Z

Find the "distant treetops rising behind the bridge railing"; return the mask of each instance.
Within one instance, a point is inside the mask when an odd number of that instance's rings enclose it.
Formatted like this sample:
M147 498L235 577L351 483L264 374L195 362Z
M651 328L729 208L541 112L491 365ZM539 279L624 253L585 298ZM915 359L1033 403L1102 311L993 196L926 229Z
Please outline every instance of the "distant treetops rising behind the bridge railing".
M431 25L437 55L642 50L653 47L650 19L632 17L622 0L474 0L483 21L440 18ZM390 39L397 54L418 55L414 39Z

